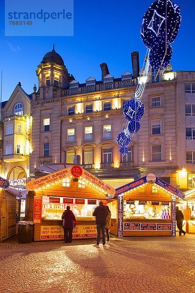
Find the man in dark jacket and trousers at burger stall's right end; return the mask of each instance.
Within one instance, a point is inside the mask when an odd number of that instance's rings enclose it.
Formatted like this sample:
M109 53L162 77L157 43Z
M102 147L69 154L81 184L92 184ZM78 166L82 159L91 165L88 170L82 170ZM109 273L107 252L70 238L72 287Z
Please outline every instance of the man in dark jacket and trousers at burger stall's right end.
M102 233L102 244L103 247L106 247L106 239L105 239L105 225L106 225L106 217L108 214L108 210L105 206L103 206L102 202L99 202L99 206L94 210L93 216L96 217L96 227L97 227L97 240L95 247L99 247L100 240L100 231Z

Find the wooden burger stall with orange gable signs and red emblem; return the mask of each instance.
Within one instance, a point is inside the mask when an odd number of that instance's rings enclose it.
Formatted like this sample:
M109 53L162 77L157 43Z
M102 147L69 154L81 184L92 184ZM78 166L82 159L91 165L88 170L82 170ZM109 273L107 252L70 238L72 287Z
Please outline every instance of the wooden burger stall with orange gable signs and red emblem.
M61 215L67 206L78 221L73 238L96 238L93 211L100 200L105 202L116 192L80 166L67 167L30 181L27 189L30 190L27 217L35 224L34 241L63 239Z

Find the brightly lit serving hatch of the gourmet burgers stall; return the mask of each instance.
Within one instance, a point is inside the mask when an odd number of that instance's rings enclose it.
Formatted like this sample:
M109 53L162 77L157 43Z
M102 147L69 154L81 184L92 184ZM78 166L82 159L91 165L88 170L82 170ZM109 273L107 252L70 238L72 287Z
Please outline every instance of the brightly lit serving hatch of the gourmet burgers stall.
M78 219L91 218L98 203L98 199L42 196L41 218L42 220L60 220L67 206Z

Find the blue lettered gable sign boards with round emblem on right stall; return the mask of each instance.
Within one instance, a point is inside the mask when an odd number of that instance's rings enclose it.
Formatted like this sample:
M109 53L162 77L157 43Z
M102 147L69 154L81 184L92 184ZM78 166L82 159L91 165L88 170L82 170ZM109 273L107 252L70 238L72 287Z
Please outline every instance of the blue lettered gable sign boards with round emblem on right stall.
M178 196L181 199L185 198L185 194L182 191L178 190L177 188L173 187L172 185L168 184L167 182L163 181L162 179L156 177L152 173L117 188L116 195L128 192L128 191L133 190L133 189L135 189L143 184L146 184L146 183L156 184L157 186L160 186L161 188L164 188L165 190L170 192L172 195Z

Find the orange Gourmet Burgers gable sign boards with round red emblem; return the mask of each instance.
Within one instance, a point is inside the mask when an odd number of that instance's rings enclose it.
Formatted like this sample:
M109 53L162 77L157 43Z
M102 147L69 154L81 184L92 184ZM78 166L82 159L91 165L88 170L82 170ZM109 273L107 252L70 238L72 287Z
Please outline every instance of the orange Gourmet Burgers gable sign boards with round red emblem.
M84 180L89 181L91 184L99 188L102 192L107 193L110 196L114 196L116 193L116 190L114 188L101 181L89 171L83 169L78 165L70 166L54 173L48 173L46 176L29 181L26 184L26 188L30 191L37 190L68 177L73 177L73 180L74 178L83 178Z

